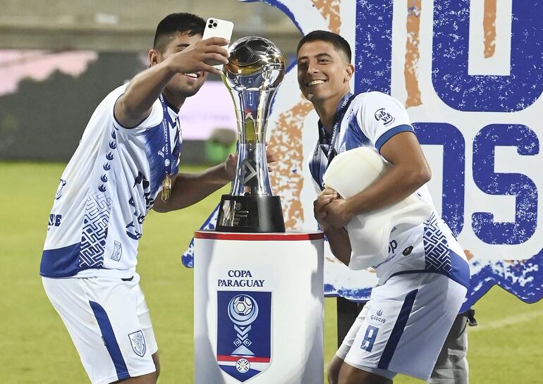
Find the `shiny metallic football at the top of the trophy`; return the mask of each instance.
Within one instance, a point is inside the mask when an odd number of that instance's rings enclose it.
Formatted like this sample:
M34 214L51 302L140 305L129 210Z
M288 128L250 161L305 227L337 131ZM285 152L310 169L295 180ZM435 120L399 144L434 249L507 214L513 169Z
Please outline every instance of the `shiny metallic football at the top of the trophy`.
M228 85L234 89L267 90L279 86L285 75L285 58L264 37L249 36L233 42L223 67Z

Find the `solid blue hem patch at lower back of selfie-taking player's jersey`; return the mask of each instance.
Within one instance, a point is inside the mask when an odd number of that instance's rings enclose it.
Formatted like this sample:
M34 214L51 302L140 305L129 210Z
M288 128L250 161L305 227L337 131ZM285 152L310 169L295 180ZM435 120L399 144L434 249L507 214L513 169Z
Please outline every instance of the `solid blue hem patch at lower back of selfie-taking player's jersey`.
M68 247L44 250L39 274L46 278L66 278L75 275L81 271L79 266L80 248L81 243L78 242L68 245Z

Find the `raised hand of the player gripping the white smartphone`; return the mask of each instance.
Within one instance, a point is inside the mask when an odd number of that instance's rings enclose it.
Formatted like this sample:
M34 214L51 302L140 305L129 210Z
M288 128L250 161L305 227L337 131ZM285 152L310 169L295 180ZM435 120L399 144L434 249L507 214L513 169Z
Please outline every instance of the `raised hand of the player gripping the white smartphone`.
M228 40L221 37L210 37L190 44L183 51L167 58L171 68L178 73L196 73L205 71L221 75L221 71L211 64L228 63L228 51L221 46L228 45Z

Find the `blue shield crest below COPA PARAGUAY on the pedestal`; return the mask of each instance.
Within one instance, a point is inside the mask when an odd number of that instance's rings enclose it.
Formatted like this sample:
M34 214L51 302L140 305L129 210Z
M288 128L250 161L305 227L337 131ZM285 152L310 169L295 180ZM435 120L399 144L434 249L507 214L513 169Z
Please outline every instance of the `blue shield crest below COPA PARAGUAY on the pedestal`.
M271 292L217 292L216 358L242 383L269 368Z

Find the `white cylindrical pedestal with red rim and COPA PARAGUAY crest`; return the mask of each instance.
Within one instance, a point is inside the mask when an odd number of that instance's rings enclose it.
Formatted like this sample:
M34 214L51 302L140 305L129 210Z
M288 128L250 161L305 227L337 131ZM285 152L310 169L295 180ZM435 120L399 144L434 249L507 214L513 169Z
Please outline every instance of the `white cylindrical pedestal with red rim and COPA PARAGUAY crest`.
M195 232L195 384L324 382L323 237Z

